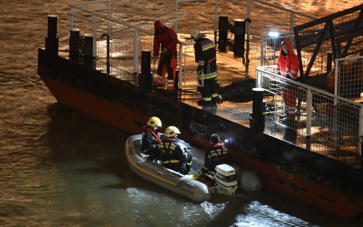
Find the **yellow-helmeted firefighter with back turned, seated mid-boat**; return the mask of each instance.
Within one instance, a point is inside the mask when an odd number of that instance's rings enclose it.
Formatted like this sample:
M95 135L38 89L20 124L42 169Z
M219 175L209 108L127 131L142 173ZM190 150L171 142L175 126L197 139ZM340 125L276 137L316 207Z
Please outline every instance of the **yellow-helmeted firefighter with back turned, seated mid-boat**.
M159 143L158 149L155 149L148 159L158 158L166 168L186 175L192 164L192 153L181 149L176 141L177 134L180 134L180 131L176 127L167 127L165 137Z

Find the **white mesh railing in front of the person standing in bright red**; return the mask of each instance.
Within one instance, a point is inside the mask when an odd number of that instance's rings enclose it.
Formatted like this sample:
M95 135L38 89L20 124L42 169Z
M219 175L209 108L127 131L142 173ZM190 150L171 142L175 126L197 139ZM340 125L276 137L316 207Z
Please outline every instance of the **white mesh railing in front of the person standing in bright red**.
M256 76L257 87L264 89L270 109L267 113L275 115L277 125L361 155L363 104L285 79L275 74L275 70L276 66L257 67ZM288 102L295 104L295 112L290 115L292 122L284 118Z

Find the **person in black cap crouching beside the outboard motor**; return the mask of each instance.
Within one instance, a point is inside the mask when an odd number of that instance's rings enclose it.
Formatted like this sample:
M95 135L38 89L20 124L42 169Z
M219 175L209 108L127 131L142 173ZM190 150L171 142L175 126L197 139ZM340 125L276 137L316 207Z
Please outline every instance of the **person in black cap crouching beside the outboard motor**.
M214 176L215 166L220 164L231 164L232 157L229 154L228 149L219 143L219 136L217 134L213 134L210 141L211 145L207 148L201 174Z

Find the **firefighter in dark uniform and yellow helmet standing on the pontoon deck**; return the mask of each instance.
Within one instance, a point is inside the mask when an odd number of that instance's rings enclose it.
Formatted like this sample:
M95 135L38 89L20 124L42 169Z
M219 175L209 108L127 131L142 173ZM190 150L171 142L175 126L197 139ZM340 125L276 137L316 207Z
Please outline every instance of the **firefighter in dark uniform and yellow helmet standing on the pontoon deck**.
M205 35L196 29L192 31L191 39L196 42L194 44L194 54L198 63L198 89L202 95L198 105L220 104L222 103L222 96L217 93L217 59L213 42L205 38Z

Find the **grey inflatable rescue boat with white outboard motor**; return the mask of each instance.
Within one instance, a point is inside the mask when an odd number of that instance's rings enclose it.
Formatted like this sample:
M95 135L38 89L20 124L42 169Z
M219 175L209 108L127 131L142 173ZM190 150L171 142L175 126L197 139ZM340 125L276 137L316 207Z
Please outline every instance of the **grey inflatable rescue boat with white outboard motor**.
M215 182L209 187L192 178L204 164L205 151L194 148L183 140L176 139L182 149L188 149L193 154L191 175L182 175L161 165L160 160L148 160L141 150L142 135L130 136L125 144L127 161L132 171L139 177L157 184L165 189L191 198L196 202L211 199L211 194L234 194L237 187L244 191L260 191L263 188L261 180L255 172L248 171L236 165L222 164L216 166Z

